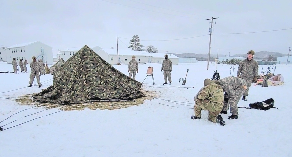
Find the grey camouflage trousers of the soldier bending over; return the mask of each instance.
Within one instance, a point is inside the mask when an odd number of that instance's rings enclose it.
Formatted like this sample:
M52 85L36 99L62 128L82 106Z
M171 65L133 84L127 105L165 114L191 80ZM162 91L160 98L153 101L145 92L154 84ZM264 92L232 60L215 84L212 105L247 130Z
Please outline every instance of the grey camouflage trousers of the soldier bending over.
M245 89L242 87L239 87L237 89L235 89L235 95L233 95L232 97L228 98L228 95L225 93L224 97L228 99L228 101L224 101L224 107L223 107L223 111L228 111L229 106L230 106L230 113L234 114L234 115L238 115L238 107L237 104L242 96L242 94L244 93Z

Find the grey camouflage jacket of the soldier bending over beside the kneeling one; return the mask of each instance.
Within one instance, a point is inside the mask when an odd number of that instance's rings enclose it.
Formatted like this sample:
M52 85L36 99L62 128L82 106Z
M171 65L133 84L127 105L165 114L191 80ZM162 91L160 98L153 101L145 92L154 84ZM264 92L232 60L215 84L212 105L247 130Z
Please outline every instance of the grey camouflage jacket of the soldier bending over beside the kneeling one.
M215 83L221 85L224 92L227 94L227 98L230 98L236 94L236 88L243 88L246 85L246 81L244 79L228 76L224 79L216 80Z

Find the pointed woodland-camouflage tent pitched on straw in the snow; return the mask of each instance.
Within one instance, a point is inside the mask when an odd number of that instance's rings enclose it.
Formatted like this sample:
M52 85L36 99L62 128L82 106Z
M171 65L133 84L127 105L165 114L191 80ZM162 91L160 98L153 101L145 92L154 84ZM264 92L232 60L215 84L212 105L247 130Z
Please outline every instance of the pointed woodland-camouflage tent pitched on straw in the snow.
M112 67L85 45L54 74L53 86L33 95L33 99L63 105L127 101L144 97L140 88L140 82Z

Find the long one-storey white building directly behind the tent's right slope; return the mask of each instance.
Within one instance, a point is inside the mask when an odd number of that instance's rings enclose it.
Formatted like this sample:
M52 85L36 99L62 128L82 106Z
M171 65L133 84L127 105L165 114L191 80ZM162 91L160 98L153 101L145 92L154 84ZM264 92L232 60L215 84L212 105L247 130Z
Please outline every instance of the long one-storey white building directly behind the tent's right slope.
M152 55L151 53L147 53L145 51L134 51L130 49L119 49L119 61L117 55L117 49L100 49L99 46L92 48L92 50L97 53L103 60L107 61L111 65L120 64L129 64L130 60L132 60L132 56L135 55L138 64L145 64L151 62Z

